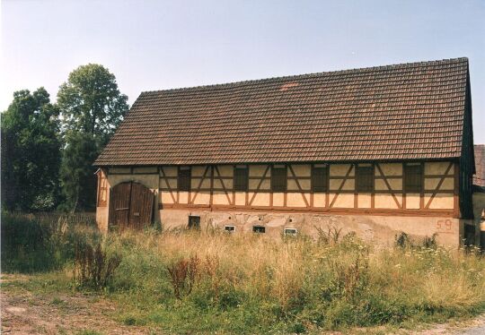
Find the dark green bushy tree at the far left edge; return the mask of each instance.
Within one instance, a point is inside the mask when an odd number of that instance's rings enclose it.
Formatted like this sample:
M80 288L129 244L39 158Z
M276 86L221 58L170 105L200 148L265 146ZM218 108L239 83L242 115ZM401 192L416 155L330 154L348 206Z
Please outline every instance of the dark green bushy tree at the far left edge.
M13 93L2 115L2 199L7 210L48 210L57 202L61 142L47 90Z

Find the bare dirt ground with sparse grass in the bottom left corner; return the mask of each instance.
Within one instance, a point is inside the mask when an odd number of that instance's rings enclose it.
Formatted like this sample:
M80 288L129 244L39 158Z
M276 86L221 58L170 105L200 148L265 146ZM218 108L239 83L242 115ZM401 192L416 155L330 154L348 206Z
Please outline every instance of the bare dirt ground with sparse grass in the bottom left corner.
M18 276L15 280L19 280ZM115 322L108 316L116 311L112 303L81 294L43 296L25 290L15 290L13 294L2 289L1 304L2 334L160 333Z

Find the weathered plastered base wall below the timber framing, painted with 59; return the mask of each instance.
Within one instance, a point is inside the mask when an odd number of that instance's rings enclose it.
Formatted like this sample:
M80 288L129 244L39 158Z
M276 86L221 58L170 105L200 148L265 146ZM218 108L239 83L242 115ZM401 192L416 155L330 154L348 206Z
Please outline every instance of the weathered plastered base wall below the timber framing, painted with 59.
M234 233L252 233L254 226L266 228L266 235L282 236L285 228L296 228L300 234L318 237L319 230L340 230L341 236L355 232L368 242L393 245L401 232L416 240L437 234L440 245L459 247L465 220L439 217L395 217L325 215L306 213L264 213L243 211L160 210L164 229L186 228L189 216L200 217L200 228L234 226Z

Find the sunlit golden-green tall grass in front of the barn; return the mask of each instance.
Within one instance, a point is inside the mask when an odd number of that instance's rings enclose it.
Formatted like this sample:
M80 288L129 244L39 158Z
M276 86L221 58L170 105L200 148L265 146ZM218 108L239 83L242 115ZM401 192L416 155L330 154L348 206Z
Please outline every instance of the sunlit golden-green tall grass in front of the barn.
M128 325L178 333L317 332L443 322L485 310L485 261L472 249L379 249L331 230L317 241L150 229L97 241L103 253L119 257L105 294Z

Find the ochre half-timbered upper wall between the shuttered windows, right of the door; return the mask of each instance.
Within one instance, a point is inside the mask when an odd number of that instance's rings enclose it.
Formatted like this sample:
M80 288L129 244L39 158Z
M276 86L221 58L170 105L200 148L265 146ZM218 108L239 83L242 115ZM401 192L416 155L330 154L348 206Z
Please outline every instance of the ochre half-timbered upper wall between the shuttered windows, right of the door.
M331 164L329 190L312 193L312 166L287 165L287 192L271 193L269 165L249 166L249 190L234 192L234 166L214 168L192 167L191 192L177 191L177 168L163 167L160 178L161 206L186 205L305 208L305 209L365 209L365 210L448 210L455 209L454 164L424 163L422 193L403 192L401 163L375 164L375 190L356 192L356 167L351 164ZM211 195L212 185L212 195Z

